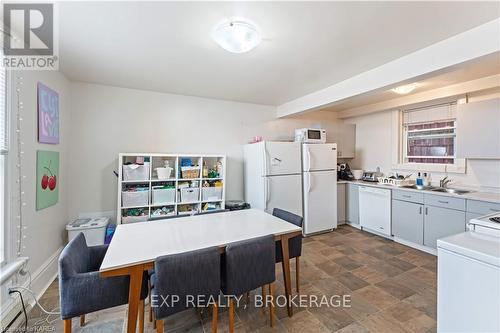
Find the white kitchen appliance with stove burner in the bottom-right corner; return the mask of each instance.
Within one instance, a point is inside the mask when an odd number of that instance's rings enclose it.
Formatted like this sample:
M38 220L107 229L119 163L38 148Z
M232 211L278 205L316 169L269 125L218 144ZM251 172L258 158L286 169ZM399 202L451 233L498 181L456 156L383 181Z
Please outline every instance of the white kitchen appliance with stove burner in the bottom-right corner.
M438 239L438 332L500 332L500 213ZM464 306L464 304L469 304Z

